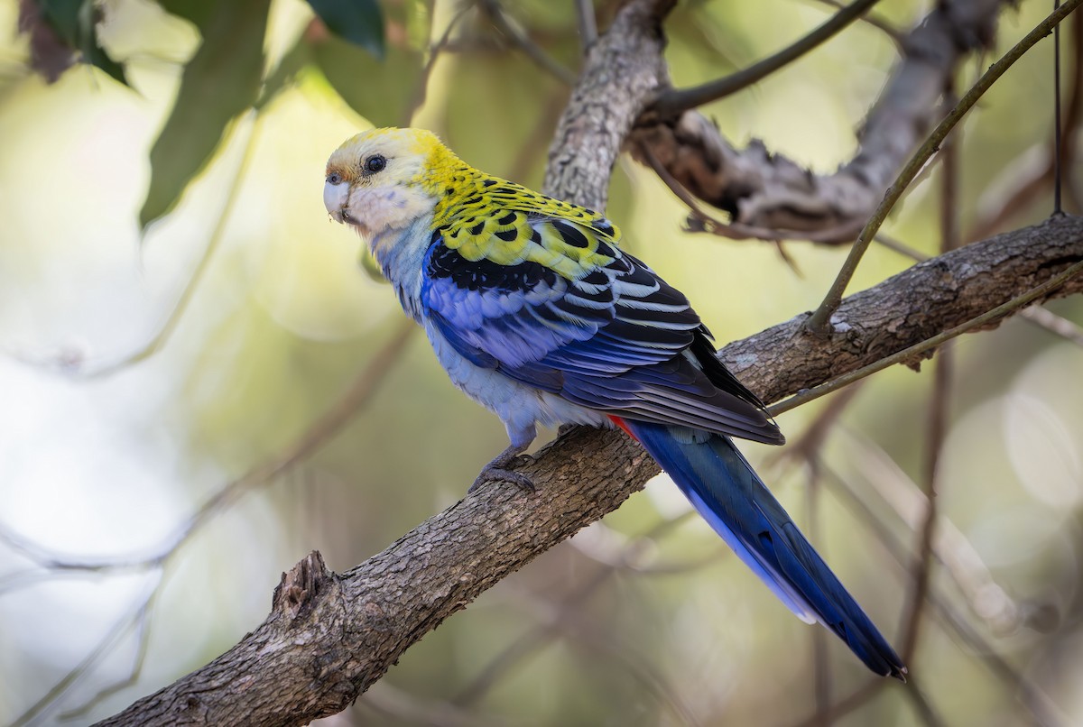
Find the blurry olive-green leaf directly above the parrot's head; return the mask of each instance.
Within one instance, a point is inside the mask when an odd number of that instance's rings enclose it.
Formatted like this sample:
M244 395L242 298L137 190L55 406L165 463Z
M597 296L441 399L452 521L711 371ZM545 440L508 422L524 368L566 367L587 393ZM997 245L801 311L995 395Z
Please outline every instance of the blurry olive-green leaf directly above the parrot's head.
M331 88L350 108L376 125L402 125L417 93L421 56L392 45L381 63L356 45L330 37L312 47L312 56Z

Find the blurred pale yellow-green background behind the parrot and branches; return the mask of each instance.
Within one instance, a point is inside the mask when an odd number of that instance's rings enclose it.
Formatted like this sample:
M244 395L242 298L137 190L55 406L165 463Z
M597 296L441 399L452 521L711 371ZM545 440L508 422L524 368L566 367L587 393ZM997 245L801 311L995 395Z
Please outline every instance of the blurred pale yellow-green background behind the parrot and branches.
M930 4L886 0L875 14L904 31ZM279 574L306 553L336 570L360 563L460 498L505 446L499 422L448 384L390 289L358 265L356 237L328 221L323 168L361 129L413 123L536 186L567 87L478 9L381 8L377 60L301 0L274 0L265 75L295 67L144 230L148 153L196 26L149 0L109 0L101 41L130 88L87 66L50 84L29 66L17 3L0 3L0 724L89 723L206 663L264 618ZM602 25L612 11L599 4ZM506 12L576 67L573 3ZM666 25L674 80L745 66L831 12L812 0L681 3ZM1026 1L1005 13L999 51L1047 12ZM426 91L429 49L453 21ZM1068 83L1078 36L1065 36ZM852 156L897 57L887 34L856 24L703 110L739 144L762 138L831 171ZM964 236L1041 163L1052 57L1051 43L1036 47L963 124ZM968 63L961 85L988 61ZM770 243L683 233L687 210L629 160L610 200L627 248L722 342L813 307L846 252L787 243L791 267ZM939 200L935 169L886 232L935 254ZM1051 203L1039 195L1003 228ZM874 247L851 289L910 264ZM1078 299L1048 308L1083 322ZM950 567L934 567L938 605L911 671L942 724L1083 724L1083 348L1021 319L950 347L938 467ZM892 638L929 453L925 369L862 385L811 487L799 457L743 447ZM831 406L780 424L800 440ZM426 636L327 724L791 725L869 682L841 644L817 647L818 630L688 510L655 478ZM904 689L878 688L836 724L929 724Z

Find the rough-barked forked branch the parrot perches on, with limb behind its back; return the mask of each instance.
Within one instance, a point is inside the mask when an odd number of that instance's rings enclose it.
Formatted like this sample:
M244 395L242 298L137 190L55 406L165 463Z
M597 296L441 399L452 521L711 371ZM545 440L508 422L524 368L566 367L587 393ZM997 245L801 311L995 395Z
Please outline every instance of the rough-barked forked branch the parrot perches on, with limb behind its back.
M671 5L631 0L591 48L550 153L550 193L604 207L621 145L666 83L661 22ZM803 334L803 314L720 355L775 400L969 320L1080 260L1083 219L1059 216L848 298L835 316L845 325L832 335ZM1055 294L1081 291L1077 276ZM271 614L239 644L100 724L297 725L339 712L426 633L616 508L657 467L621 433L577 429L523 471L538 494L481 488L345 573L311 554L283 576Z

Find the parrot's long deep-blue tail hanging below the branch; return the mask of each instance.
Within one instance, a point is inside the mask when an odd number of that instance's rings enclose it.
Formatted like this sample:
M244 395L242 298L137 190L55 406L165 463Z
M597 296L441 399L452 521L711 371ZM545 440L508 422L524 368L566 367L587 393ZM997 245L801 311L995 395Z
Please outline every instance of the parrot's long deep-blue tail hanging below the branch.
M905 682L902 660L729 437L682 426L619 423L790 610L831 629L872 671Z

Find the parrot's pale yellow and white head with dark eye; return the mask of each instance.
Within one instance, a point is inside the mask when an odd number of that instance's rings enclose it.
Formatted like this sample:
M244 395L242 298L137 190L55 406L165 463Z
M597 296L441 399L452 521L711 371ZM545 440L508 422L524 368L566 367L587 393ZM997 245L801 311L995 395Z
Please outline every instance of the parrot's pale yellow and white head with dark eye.
M364 131L327 160L324 206L337 222L371 240L431 213L440 199L441 179L457 161L430 131Z

